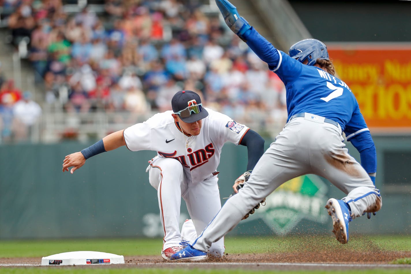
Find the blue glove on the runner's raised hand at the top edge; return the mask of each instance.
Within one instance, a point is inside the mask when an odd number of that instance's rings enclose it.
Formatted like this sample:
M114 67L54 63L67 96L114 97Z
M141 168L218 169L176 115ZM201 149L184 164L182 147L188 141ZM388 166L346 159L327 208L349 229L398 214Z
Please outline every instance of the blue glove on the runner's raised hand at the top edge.
M227 26L244 40L242 35L251 28L250 24L237 12L237 8L227 0L215 0L217 7L223 15Z

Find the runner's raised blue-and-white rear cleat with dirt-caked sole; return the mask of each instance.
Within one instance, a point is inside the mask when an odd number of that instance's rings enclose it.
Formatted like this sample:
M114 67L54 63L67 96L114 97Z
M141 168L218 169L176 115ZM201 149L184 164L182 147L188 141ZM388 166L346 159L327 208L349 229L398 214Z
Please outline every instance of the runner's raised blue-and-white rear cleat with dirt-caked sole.
M331 198L327 201L326 209L332 218L332 232L337 240L346 244L348 242L348 223L351 222L351 211L342 200Z

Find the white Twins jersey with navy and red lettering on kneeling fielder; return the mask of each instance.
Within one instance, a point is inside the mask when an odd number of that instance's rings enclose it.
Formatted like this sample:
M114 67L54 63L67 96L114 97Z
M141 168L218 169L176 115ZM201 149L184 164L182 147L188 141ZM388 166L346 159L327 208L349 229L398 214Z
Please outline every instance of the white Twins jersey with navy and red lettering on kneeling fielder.
M186 135L174 121L173 111L157 113L147 121L124 130L127 148L131 151L157 151L160 157L180 161L192 181L203 181L212 176L220 161L224 143L238 145L249 129L229 116L206 108L199 135Z

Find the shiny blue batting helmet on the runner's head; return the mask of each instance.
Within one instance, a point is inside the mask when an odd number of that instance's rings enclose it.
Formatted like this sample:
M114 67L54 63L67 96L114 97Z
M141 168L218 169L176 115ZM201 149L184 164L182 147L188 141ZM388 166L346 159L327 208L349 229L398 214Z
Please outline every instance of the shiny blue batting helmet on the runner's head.
M317 59L330 60L328 57L327 46L317 39L304 39L290 47L288 52L291 58L301 63L308 59L309 66L315 65Z

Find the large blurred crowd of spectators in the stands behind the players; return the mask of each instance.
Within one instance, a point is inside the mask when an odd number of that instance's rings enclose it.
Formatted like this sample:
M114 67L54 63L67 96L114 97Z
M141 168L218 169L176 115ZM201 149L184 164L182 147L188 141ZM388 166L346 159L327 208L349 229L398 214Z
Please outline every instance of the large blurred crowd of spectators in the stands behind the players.
M62 0L1 1L13 10L12 44L29 37L36 82L57 110L165 111L187 89L243 123L286 119L282 82L204 1L106 0L98 14L65 12Z

